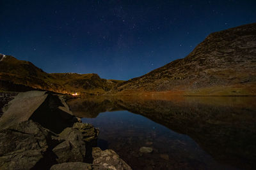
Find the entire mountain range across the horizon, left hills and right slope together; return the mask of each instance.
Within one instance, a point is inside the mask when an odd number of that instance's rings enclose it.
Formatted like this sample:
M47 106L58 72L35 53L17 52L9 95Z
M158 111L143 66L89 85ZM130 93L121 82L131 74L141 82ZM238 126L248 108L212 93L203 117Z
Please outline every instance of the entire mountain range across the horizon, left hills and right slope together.
M106 80L94 73L45 73L31 62L0 54L0 89L108 96L256 96L255 63L253 23L213 32L184 59L128 81Z

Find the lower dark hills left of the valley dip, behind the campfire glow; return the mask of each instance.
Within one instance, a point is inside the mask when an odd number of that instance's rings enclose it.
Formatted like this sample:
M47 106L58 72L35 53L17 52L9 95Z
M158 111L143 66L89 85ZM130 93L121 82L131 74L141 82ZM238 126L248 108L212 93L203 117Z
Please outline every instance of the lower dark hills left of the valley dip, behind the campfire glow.
M97 74L45 73L31 62L0 54L0 90L49 90L63 94L102 94L118 80L106 80Z

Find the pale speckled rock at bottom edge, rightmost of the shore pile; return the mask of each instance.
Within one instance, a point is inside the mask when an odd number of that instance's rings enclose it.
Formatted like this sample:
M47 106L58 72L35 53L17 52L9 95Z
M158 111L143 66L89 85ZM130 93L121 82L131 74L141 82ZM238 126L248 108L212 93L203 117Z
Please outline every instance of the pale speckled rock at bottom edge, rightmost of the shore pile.
M131 167L122 160L115 151L104 150L96 147L92 149L93 164L102 166L106 169L126 169L129 170Z

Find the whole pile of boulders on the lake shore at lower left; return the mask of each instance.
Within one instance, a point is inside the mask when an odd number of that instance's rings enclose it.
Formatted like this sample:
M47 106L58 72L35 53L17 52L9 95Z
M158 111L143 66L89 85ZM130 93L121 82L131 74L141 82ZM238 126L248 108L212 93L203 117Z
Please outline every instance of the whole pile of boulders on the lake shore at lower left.
M97 147L99 129L64 108L61 97L47 92L18 94L0 118L0 169L131 169L113 150ZM53 114L49 122L66 125L61 132L36 121L47 110Z

